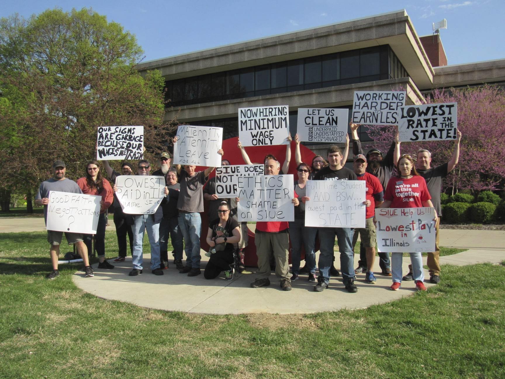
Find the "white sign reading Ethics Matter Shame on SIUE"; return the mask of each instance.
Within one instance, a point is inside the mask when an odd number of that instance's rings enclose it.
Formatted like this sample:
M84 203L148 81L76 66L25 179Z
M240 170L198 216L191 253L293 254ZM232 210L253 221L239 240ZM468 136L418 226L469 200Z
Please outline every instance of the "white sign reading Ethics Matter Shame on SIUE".
M293 221L293 175L240 176L238 221Z

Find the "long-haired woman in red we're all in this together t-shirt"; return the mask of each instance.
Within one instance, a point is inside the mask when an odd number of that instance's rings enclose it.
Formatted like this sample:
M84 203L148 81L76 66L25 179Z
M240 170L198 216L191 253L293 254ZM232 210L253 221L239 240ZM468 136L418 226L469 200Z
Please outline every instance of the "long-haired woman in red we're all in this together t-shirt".
M410 155L404 154L398 159L396 169L399 175L389 179L384 194L384 203L380 208L420 208L432 207L431 196L426 181L419 175ZM438 217L435 212L435 219ZM409 253L416 288L426 291L424 286L423 259L421 253ZM401 261L403 253L391 254L393 284L391 290L397 291L401 285Z

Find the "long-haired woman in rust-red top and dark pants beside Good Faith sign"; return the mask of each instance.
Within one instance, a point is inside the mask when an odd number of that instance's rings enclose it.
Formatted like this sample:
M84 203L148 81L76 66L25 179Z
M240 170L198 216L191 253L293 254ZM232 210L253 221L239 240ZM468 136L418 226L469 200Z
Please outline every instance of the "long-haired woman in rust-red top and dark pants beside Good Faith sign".
M86 164L86 176L77 179L77 185L81 188L83 194L102 196L100 201L100 215L98 216L98 226L95 234L95 249L98 255L98 268L112 269L114 266L105 260L105 227L107 220L105 211L114 200L112 186L107 179L100 173L100 164L98 161L88 161ZM83 234L84 243L88 248L88 254L93 251L91 246L92 234Z

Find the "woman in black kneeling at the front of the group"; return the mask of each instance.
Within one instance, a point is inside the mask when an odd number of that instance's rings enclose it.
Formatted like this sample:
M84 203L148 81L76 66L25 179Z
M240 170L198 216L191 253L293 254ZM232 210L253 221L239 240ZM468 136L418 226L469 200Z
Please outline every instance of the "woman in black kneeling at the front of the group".
M211 247L211 257L205 266L204 277L214 279L221 271L224 271L225 279L231 280L233 279L233 266L231 266L233 252L240 241L240 227L238 222L230 217L230 207L225 201L219 205L218 216L219 219L211 222L207 232L207 243ZM224 249L220 244L225 244Z

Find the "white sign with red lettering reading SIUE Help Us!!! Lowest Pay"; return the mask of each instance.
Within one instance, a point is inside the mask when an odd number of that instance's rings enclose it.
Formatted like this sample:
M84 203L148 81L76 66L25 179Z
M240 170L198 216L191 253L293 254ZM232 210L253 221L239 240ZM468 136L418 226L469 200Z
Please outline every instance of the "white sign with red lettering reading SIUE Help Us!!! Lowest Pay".
M377 208L379 253L435 251L433 208Z

